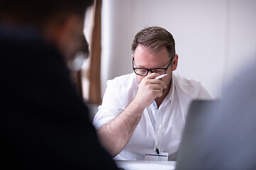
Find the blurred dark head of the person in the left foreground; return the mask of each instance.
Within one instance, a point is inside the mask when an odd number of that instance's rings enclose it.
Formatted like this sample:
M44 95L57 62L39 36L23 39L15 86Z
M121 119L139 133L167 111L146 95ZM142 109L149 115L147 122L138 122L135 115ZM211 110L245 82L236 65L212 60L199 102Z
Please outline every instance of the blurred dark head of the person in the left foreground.
M88 52L83 26L85 11L90 5L92 1L88 0L1 0L0 22L10 28L38 30L58 48L65 62L70 62L77 52Z

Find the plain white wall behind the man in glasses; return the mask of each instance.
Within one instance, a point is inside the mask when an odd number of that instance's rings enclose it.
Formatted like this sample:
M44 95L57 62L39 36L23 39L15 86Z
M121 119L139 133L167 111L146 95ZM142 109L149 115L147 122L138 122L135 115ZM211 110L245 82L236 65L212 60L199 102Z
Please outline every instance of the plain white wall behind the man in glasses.
M107 79L132 72L132 40L145 26L174 35L175 72L201 81L213 98L256 61L255 0L103 0L102 95Z

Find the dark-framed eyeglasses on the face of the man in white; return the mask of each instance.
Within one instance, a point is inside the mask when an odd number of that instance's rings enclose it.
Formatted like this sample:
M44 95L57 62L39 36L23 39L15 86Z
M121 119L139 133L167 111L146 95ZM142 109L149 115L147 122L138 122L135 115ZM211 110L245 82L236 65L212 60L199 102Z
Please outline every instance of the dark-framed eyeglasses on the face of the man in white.
M171 59L171 62L174 58ZM139 76L146 76L149 72L154 72L157 74L166 74L166 70L170 67L171 62L169 62L166 68L154 68L154 69L144 69L144 68L134 68L134 57L132 57L132 69L134 70L135 74Z

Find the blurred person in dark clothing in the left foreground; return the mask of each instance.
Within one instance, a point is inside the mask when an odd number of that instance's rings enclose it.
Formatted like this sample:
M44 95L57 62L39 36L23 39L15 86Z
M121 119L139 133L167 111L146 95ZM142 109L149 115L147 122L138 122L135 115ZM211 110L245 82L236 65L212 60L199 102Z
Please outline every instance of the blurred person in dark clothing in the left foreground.
M91 5L0 1L2 168L116 169L70 83Z

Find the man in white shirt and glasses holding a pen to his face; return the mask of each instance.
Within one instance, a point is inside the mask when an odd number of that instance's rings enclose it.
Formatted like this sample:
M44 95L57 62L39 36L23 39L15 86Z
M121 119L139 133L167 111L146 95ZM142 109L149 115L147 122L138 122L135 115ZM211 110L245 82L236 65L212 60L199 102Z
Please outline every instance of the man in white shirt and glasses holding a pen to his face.
M172 73L177 64L175 41L167 30L149 27L135 35L134 73L107 81L93 121L114 159L176 159L191 100L210 98L198 81ZM155 79L162 74L167 76Z

